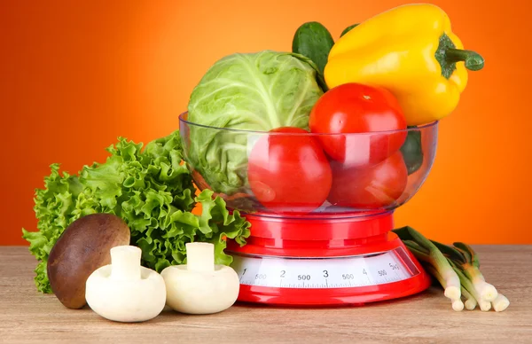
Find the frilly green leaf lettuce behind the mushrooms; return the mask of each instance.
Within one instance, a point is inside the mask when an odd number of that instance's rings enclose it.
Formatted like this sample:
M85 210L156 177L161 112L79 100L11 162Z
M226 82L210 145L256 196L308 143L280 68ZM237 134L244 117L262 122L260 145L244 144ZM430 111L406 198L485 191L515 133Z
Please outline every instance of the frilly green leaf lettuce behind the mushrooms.
M95 213L114 214L130 229L130 245L142 249L142 264L161 271L184 262L184 244L206 241L215 244L216 263L229 264L224 254L226 240L244 245L250 223L238 211L229 213L221 198L205 190L195 199L189 169L183 164L179 132L154 140L142 150L121 138L107 149L104 163L85 166L77 176L59 175L51 166L45 187L35 192L35 214L39 231L23 230L29 251L39 261L35 285L51 293L46 262L59 236L74 220ZM191 213L200 203L201 215Z

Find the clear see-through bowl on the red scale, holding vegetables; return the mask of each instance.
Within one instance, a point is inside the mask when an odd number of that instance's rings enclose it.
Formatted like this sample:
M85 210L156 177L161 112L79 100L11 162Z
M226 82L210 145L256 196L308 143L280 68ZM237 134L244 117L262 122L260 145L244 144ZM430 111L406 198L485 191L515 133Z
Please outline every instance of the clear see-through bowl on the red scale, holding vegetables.
M432 168L438 122L354 134L202 126L179 117L184 160L200 190L231 209L279 216L370 215L419 191Z

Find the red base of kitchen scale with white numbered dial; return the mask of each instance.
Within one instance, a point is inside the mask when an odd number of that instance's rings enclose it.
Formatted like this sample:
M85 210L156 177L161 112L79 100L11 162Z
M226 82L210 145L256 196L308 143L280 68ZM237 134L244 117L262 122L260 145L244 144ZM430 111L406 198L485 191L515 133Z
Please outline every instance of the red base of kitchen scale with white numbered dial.
M252 218L254 237L246 246L228 246L240 278L238 301L291 307L360 306L425 291L431 278L390 231L391 216L358 219L343 227L329 223L328 231L319 226L323 240L301 223ZM312 224L319 223L313 220ZM312 240L290 238L303 236L294 232L300 225ZM360 226L371 228L374 235L365 237L364 231L356 231ZM340 231L349 238L341 238ZM355 232L364 238L353 238ZM335 246L339 239L343 244ZM325 242L326 248L318 248Z

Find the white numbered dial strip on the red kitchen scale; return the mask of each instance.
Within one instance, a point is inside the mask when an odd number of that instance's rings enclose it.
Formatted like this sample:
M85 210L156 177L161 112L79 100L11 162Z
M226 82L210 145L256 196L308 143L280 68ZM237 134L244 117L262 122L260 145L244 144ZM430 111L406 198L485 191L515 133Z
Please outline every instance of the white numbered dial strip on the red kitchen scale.
M394 283L419 274L403 247L347 257L235 254L233 259L240 285L274 288L353 288Z

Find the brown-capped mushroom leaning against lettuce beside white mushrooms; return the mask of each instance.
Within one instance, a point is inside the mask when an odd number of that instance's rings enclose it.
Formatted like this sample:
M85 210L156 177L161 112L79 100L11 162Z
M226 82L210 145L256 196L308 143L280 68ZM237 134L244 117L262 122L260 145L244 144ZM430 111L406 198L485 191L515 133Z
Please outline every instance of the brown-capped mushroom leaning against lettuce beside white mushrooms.
M111 262L109 250L129 245L129 228L111 214L82 216L71 223L50 251L47 275L51 291L69 309L81 309L92 271Z

